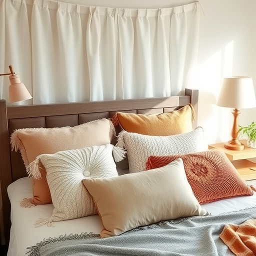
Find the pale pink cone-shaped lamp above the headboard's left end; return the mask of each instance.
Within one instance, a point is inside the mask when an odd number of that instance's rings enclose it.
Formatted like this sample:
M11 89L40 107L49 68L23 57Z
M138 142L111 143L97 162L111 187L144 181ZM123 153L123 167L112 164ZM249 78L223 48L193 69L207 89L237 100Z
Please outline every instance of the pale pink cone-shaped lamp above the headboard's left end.
M20 82L19 77L14 73L12 66L9 66L10 73L3 73L0 75L10 75L9 85L9 103L22 101L32 98L25 85Z

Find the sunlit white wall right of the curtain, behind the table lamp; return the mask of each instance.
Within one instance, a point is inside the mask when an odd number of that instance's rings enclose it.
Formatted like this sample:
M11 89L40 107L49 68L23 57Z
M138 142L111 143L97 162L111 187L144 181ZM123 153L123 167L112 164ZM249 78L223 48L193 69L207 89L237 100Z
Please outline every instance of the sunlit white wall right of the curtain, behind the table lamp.
M200 0L198 65L194 87L199 89L198 124L209 143L230 138L230 108L216 106L225 76L251 76L256 88L256 1ZM241 109L239 124L256 121L256 108Z

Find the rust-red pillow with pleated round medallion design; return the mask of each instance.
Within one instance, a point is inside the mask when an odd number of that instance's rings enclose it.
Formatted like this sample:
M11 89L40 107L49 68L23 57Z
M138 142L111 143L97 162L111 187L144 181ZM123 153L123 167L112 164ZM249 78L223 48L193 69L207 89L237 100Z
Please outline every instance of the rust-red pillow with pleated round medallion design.
M146 169L164 166L181 158L185 173L196 199L200 204L240 195L252 195L252 188L239 175L221 150L169 155L149 156Z

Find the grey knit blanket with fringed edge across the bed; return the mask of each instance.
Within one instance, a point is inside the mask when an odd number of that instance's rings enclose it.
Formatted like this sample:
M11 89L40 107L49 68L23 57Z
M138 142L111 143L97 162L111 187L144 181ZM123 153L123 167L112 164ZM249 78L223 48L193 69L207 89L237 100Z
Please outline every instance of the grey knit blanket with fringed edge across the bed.
M63 235L27 248L29 256L228 256L234 255L219 238L225 224L256 218L256 207L219 215L161 221L121 235Z

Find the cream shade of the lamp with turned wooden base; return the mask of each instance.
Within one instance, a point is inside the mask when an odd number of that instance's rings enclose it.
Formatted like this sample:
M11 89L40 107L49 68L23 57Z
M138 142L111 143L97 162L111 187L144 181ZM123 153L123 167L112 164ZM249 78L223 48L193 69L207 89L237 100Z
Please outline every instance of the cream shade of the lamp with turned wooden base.
M252 78L248 76L224 78L217 105L232 108L256 107Z

